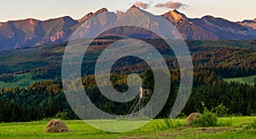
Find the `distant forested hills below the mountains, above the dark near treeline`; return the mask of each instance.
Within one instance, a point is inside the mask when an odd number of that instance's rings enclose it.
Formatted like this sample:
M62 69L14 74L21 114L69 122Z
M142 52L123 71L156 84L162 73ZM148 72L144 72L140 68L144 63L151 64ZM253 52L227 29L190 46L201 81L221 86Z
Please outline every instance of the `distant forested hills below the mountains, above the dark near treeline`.
M109 43L92 43L83 61L84 68L88 68L88 72L83 75L91 74L93 65L96 62L97 55L102 52ZM155 41L153 42L159 47L159 50L166 55L166 46ZM210 68L215 70L221 77L241 77L256 74L256 40L249 41L186 41L193 64L195 67ZM33 79L55 79L61 78L61 62L67 43L40 46L31 49L11 49L0 51L0 81L11 82L15 79L15 74L31 72ZM167 55L166 63L170 69L177 68L177 61L173 54ZM123 66L128 72L142 71L133 63L129 67ZM143 64L139 63L140 66ZM86 66L85 66L86 65ZM143 68L145 68L144 66ZM146 68L148 70L148 68ZM124 71L124 70L123 70Z

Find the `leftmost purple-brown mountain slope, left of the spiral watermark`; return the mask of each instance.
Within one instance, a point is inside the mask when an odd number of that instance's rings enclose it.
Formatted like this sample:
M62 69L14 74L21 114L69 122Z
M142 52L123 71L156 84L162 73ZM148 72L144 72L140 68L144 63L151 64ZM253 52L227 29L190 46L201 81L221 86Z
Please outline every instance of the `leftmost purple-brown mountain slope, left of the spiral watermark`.
M78 21L70 17L53 20L15 20L0 23L0 49L37 46L44 43L61 43L72 33L69 29Z

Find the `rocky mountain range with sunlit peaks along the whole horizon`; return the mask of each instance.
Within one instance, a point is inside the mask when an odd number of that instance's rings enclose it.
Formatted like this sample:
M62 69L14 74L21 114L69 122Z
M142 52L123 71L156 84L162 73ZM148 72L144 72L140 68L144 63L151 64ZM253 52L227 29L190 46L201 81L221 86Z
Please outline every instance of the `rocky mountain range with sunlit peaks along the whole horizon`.
M100 16L96 16L101 14ZM86 14L80 20L73 20L65 16L50 20L11 20L0 22L0 49L17 49L34 47L42 44L63 43L71 37L79 26L84 27L83 32L93 32L104 28L116 21L124 21L131 16L139 16L149 20L148 12L132 6L126 12L110 12L108 9L99 9L96 13ZM201 19L190 19L177 10L170 10L162 15L177 28L184 39L194 40L248 40L256 39L256 19L232 22L223 18L204 16ZM92 17L96 17L92 18ZM93 19L93 20L92 20ZM157 20L154 20L157 22ZM97 26L97 28L94 25ZM165 29L168 31L167 29Z

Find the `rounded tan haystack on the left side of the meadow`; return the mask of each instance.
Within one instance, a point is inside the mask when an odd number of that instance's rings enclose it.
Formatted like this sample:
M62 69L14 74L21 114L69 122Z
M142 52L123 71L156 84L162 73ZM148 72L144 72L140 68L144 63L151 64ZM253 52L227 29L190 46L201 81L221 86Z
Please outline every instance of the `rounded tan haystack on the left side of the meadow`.
M56 133L56 132L68 132L67 125L61 121L61 119L52 119L45 126L45 132Z

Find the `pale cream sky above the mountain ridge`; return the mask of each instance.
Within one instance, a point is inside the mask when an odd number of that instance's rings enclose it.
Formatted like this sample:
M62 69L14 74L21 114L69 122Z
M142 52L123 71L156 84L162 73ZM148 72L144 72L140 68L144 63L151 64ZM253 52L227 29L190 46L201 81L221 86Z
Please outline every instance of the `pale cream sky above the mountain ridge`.
M148 3L147 10L152 14L164 14L169 10L165 3L169 0L139 0ZM125 11L137 0L2 0L0 22L33 18L49 20L61 16L71 16L78 20L89 12L107 8L110 11ZM177 9L189 18L201 18L204 15L221 17L231 21L253 20L256 18L255 0L177 0L182 3ZM155 7L160 4L161 6Z

